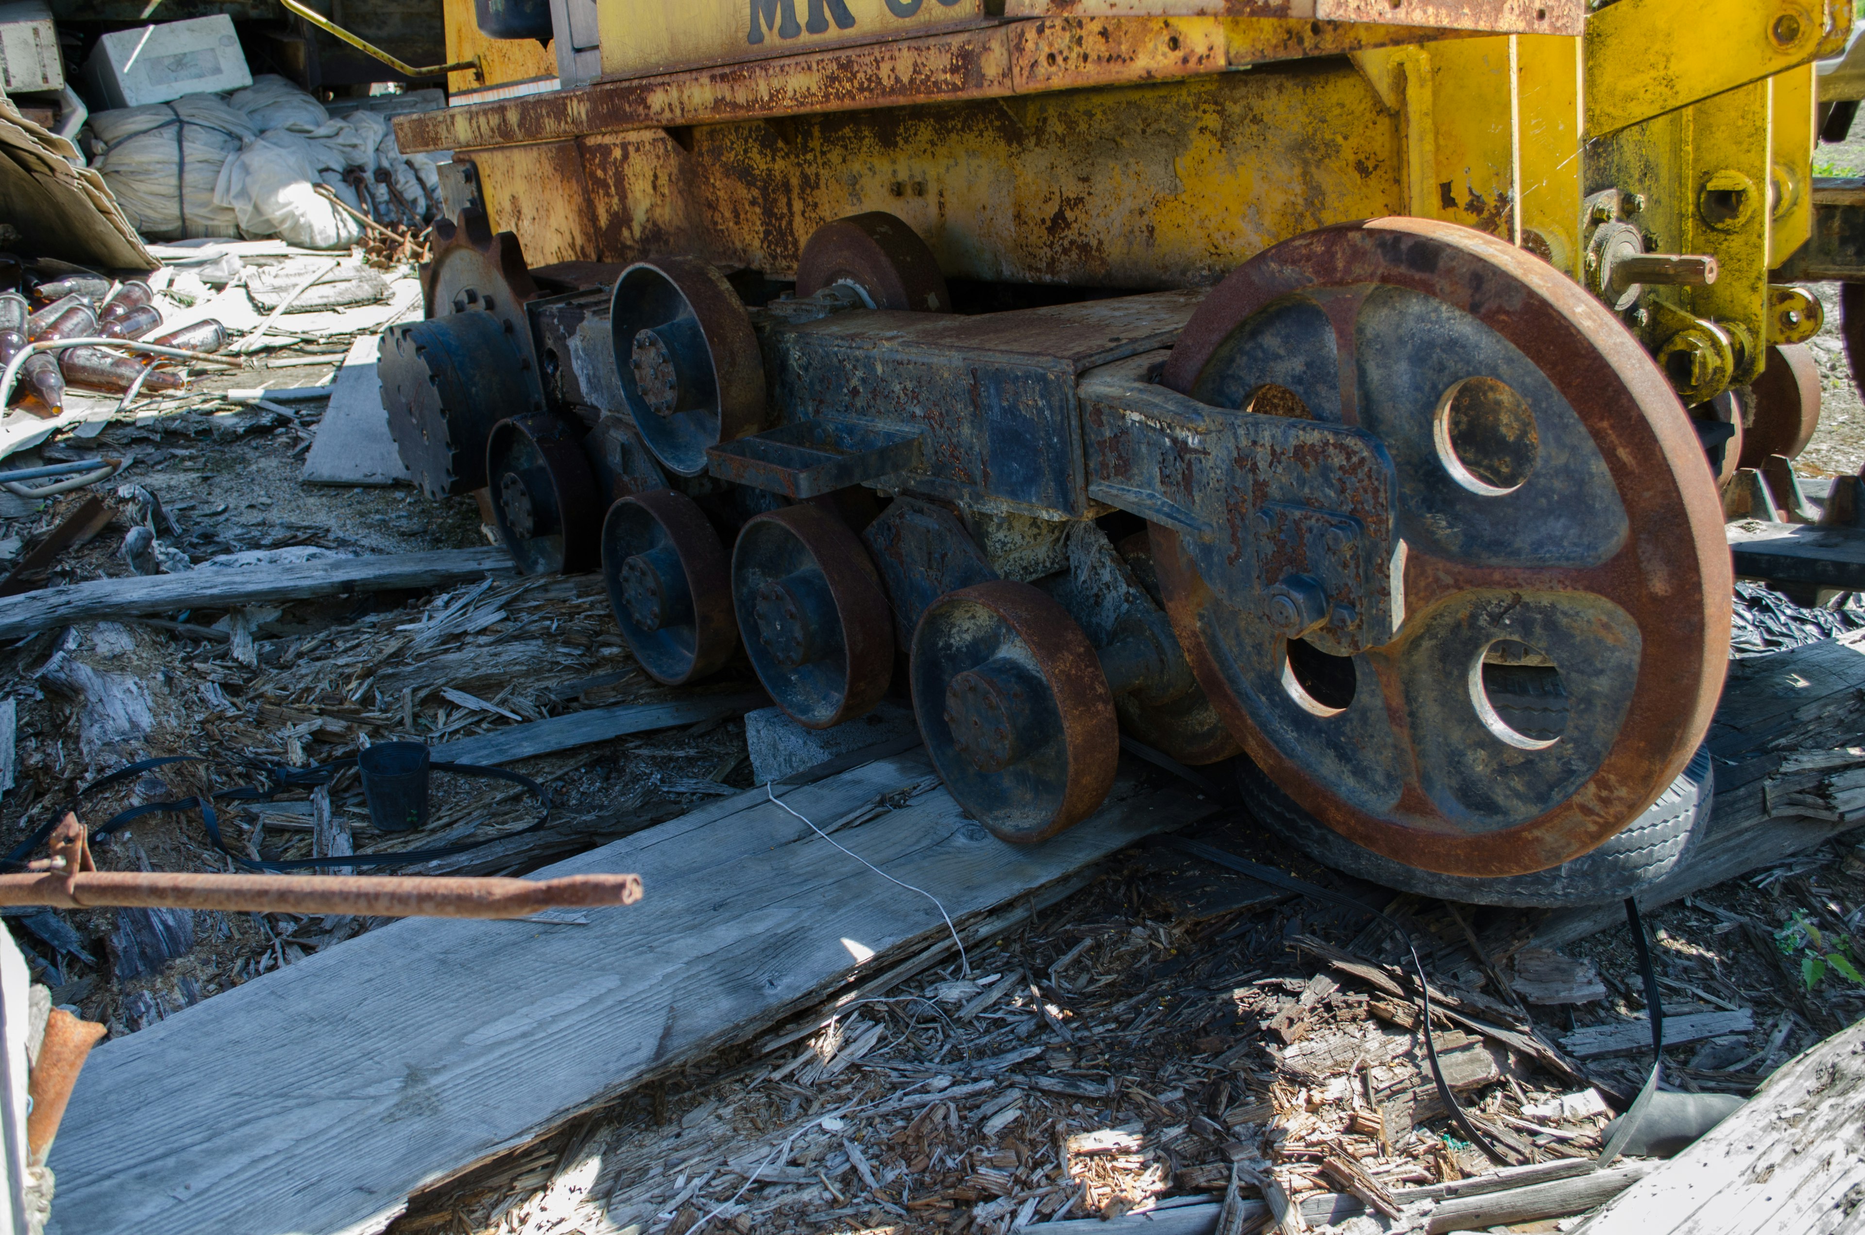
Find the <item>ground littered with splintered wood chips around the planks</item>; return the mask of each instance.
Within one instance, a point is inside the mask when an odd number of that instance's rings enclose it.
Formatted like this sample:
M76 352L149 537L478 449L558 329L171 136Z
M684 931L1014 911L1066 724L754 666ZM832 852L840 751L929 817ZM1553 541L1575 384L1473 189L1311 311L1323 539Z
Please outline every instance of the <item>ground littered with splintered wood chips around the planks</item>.
M1835 157L1865 166L1865 147L1856 146ZM328 351L334 345L317 356L272 353L270 362L308 364L203 377L186 395L151 401L93 438L67 435L15 455L17 463L134 457L114 481L123 487L110 498L117 520L67 554L50 582L131 571L117 554L125 532L138 520L160 522L131 487L160 498L179 530L159 526L159 539L194 563L250 550L373 554L483 543L470 498L300 485L315 403L283 416L218 397L259 382L313 384L341 354ZM1826 416L1805 470L1858 470L1865 409L1837 345L1833 302L1815 351L1828 382ZM80 498L9 515L0 554L11 541L17 558ZM106 700L56 687L47 666L58 657L90 666L114 688L140 688L149 724L112 731L97 722ZM711 687L748 681L737 666ZM95 623L48 632L0 651L0 696L19 705L17 784L0 800L0 843L13 847L76 802L80 785L132 757L213 761L82 798L93 826L138 802L241 784L254 763L302 767L366 741L470 735L666 692L632 666L599 582L578 578L200 612L181 629ZM448 869L535 869L752 780L740 722L517 767L550 784L554 830L535 845L492 847L496 856L481 866L463 860ZM330 804L354 853L513 838L533 817L522 795L487 800L477 789L446 787L431 828L405 838L369 828L354 780L339 776ZM328 856L313 853L313 810L298 791L263 810L229 812L228 849ZM1442 903L1395 899L1332 875L1264 840L1246 810L1227 812L1205 834L1395 914L1419 938L1444 994L1499 1024L1559 1039L1643 1015L1623 927L1565 950L1576 974L1596 974L1598 996L1527 1004L1513 989L1514 968L1498 970L1481 946L1499 929L1490 910L1458 922ZM1809 981L1802 968L1830 951L1858 955L1850 940L1865 927L1859 840L1850 834L1651 916L1660 978L1667 1000L1677 1000L1669 1015L1753 1013L1753 1028L1667 1052L1680 1084L1746 1093L1794 1052L1865 1015L1858 981L1835 966ZM99 847L99 864L233 869L194 813L138 819ZM56 1002L121 1035L375 923L289 914L162 923L91 910L15 916L9 925ZM186 946L177 946L177 931ZM1417 1034L1376 985L1330 970L1322 946L1380 964L1399 957L1363 914L1272 894L1182 854L1132 851L1037 922L979 944L970 974L927 972L826 1026L826 1015L806 1017L772 1035L780 1041L767 1039L768 1048L698 1062L446 1192L416 1198L392 1229L686 1235L703 1220L707 1231L996 1233L1018 1220L1113 1216L1222 1196L1238 1155L1261 1162L1298 1200L1335 1188L1322 1162L1339 1153L1393 1190L1486 1170L1442 1114L1412 1119L1425 1078ZM1018 976L1026 981L1013 981ZM1440 1032L1438 1045L1466 1052L1481 1080L1464 1101L1485 1127L1499 1129L1496 1140L1514 1138L1518 1147L1505 1157L1524 1162L1585 1153L1598 1145L1602 1123L1529 1108L1589 1084L1628 1093L1643 1078L1641 1056L1589 1062L1576 1075L1507 1050L1498 1060L1494 1043L1457 1030ZM759 1164L776 1170L759 1170L755 1181L735 1170ZM1365 1222L1328 1229L1378 1229Z

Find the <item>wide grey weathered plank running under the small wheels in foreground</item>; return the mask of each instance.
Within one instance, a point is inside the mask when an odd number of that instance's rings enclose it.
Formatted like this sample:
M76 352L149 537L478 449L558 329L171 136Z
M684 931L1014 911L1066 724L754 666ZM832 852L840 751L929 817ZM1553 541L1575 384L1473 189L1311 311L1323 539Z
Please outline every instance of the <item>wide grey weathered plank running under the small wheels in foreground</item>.
M929 776L923 756L899 756L785 802L828 823ZM1043 845L994 840L938 787L837 840L962 923L1209 810L1130 782L1115 793ZM60 1228L380 1231L410 1190L946 931L932 901L759 791L539 875L576 871L638 871L647 895L573 927L399 922L101 1047L52 1153Z

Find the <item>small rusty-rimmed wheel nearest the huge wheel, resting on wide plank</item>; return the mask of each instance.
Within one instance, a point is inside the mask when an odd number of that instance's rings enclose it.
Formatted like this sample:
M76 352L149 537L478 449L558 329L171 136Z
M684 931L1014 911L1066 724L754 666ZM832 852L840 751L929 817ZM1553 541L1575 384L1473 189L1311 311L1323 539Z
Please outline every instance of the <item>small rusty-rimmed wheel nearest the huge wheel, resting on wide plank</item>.
M1095 647L1061 604L992 580L934 601L914 629L914 715L946 789L998 838L1085 819L1121 756Z

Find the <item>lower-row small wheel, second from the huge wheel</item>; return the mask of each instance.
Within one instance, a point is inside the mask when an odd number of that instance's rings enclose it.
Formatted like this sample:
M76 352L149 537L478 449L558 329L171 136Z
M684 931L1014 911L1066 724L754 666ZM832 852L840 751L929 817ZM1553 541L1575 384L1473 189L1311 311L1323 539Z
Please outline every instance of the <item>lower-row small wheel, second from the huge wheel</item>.
M893 675L893 616L849 526L819 506L757 515L731 550L744 651L772 701L826 729L871 711Z

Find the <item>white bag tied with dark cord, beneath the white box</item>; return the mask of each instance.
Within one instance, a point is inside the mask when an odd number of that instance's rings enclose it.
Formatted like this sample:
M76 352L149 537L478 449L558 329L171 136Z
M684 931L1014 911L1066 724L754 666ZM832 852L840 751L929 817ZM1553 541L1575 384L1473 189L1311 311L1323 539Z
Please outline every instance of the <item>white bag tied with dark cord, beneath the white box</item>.
M91 112L104 144L93 166L131 226L149 241L239 235L235 213L216 203L220 173L259 132L216 95Z

